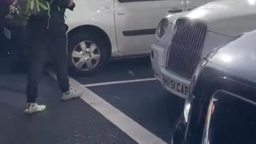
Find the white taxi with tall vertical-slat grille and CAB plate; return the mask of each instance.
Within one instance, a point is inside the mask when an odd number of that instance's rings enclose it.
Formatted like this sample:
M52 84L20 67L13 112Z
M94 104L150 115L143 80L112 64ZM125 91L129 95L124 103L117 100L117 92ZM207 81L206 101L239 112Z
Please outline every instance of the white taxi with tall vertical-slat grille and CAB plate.
M152 46L154 75L171 93L186 98L198 62L255 29L256 0L220 0L169 15L159 24Z

